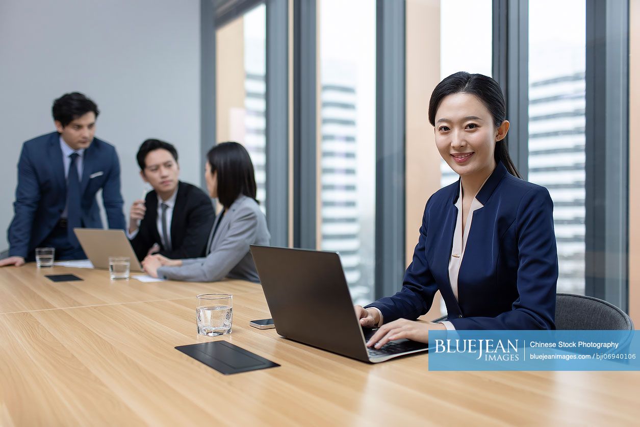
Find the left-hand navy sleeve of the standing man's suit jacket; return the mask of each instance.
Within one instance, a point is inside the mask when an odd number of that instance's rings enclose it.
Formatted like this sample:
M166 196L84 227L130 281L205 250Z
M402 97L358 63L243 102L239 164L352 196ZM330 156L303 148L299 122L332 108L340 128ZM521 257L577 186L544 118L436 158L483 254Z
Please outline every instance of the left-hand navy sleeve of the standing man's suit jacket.
M27 257L33 218L39 202L38 178L31 163L28 147L22 145L18 161L18 186L15 190L15 202L13 202L14 216L7 232L9 256Z

